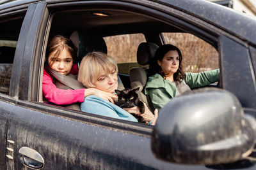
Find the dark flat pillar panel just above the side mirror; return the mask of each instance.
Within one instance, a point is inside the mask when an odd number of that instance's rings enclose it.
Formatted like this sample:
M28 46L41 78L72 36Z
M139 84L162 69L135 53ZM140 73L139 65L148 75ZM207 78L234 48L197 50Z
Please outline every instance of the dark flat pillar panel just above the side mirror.
M256 108L255 76L248 49L225 36L220 39L223 89L236 94L242 106Z

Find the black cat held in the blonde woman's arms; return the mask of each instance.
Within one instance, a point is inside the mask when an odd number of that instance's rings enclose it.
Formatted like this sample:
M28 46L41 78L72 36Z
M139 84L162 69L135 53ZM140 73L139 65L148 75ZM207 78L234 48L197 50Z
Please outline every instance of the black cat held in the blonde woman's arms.
M134 106L138 106L140 113L144 113L145 106L138 97L139 89L140 87L137 89L115 90L116 95L118 96L116 105L120 106L120 108L132 108ZM144 122L141 116L135 114L132 115L136 117L139 122Z

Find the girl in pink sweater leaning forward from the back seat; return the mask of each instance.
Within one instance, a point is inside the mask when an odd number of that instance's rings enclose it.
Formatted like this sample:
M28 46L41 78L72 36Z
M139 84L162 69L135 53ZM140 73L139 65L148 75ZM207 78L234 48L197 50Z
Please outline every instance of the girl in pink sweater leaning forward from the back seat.
M60 35L54 36L47 47L46 64L60 74L77 74L78 67L77 64L74 64L74 58L76 55L77 48L70 39ZM42 90L45 99L58 105L82 103L84 101L84 97L90 95L102 97L111 103L113 103L113 99L117 99L115 94L102 92L101 90L94 88L77 90L58 89L54 84L54 80L51 75L45 70Z

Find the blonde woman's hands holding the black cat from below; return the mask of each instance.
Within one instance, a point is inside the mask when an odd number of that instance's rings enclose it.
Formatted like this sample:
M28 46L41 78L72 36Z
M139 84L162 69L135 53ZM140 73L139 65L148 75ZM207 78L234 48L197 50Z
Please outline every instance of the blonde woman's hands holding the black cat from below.
M140 115L143 120L146 122L146 124L148 124L148 122L150 122L152 120L152 124L151 125L155 125L156 124L156 120L158 117L158 110L156 109L154 111L154 114L148 109L148 106L146 103L143 103L145 106L145 112L144 113L140 113L140 110L138 108L138 106L132 107L132 108L123 108L125 111L129 112L129 113L134 113L136 115Z

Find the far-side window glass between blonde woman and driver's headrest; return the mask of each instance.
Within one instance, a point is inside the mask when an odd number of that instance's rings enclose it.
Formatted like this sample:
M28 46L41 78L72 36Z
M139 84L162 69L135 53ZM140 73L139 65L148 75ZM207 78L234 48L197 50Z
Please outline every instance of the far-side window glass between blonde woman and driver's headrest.
M137 63L137 49L140 43L146 42L143 34L124 34L104 37L108 55L118 63L118 72L129 74L129 69L140 66Z

